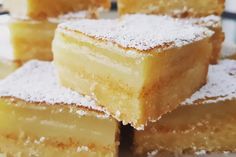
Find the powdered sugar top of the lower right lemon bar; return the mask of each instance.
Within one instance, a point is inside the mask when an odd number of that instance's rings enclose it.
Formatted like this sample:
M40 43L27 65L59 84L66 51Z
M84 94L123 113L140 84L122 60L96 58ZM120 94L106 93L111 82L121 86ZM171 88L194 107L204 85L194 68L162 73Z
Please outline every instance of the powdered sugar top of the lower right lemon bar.
M223 60L218 65L211 65L208 83L183 105L197 103L215 103L236 99L236 61Z

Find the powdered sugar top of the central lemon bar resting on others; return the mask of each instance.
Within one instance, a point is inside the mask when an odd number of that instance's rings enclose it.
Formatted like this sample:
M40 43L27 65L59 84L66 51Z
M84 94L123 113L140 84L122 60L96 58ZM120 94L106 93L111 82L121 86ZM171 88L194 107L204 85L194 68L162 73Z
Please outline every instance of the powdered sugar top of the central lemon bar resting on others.
M168 16L126 15L114 20L80 20L60 24L57 31L81 32L90 37L116 43L124 48L146 51L181 47L209 37L212 31ZM159 51L160 51L159 50Z

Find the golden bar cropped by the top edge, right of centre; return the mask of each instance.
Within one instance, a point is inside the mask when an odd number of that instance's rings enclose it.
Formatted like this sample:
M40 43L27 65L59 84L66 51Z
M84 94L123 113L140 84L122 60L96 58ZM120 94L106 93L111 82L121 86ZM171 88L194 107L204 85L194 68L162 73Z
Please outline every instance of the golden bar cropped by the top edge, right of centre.
M203 17L221 15L225 0L118 0L120 15L146 13L175 17Z

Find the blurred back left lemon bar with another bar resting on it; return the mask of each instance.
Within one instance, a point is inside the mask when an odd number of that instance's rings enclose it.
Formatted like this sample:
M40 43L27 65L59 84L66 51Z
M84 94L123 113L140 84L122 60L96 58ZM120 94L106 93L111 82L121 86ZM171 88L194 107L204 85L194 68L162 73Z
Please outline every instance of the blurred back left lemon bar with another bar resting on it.
M96 18L93 12L69 13L47 20L11 18L9 22L14 60L26 62L31 59L51 61L52 40L59 23L84 18Z

